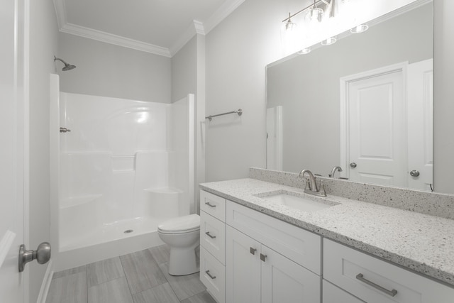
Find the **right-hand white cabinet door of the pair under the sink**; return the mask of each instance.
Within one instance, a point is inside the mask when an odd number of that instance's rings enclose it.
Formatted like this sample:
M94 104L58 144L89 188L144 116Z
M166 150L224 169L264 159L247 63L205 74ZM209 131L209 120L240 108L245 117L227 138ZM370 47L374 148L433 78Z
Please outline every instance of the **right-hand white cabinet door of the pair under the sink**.
M320 302L321 277L264 245L261 254L262 303Z

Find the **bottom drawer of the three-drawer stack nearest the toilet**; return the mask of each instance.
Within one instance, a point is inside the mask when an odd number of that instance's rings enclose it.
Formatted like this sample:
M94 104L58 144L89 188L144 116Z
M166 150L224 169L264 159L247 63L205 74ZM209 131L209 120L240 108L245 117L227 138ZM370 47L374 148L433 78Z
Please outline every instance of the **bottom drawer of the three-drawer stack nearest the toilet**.
M200 280L218 303L226 302L226 267L200 247Z

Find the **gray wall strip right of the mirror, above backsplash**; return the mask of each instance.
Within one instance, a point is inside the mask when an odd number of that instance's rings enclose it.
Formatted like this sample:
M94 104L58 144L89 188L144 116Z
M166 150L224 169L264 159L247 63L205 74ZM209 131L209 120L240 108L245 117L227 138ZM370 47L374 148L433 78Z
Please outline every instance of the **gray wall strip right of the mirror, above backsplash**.
M454 194L454 1L433 4L433 184Z

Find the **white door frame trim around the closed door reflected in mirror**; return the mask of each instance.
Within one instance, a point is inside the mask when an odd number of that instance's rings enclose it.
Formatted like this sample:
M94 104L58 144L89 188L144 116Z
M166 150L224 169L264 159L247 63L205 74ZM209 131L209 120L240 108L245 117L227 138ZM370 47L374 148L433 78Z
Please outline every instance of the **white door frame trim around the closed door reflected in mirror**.
M351 82L361 81L364 79L378 77L382 75L391 74L394 72L402 72L402 83L406 84L406 70L409 65L408 61L400 62L394 65L387 65L379 67L374 70L367 70L365 72L359 72L358 74L348 75L339 79L340 87L340 98L339 98L339 111L340 111L340 138L341 138L341 177L350 178L350 170L348 170L350 153L348 146L350 146L350 127L349 127L349 107L348 107L348 86ZM406 100L406 85L403 87L404 100ZM405 104L406 107L406 104ZM406 122L405 122L406 123Z

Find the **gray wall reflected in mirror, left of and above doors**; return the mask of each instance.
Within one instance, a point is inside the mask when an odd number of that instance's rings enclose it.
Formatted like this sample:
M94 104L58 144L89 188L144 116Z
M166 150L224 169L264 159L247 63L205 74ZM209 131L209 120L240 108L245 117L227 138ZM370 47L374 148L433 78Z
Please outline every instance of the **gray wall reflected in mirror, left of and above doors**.
M432 58L432 16L428 4L267 69L267 107L283 106L284 171L327 177L341 164L339 79Z

